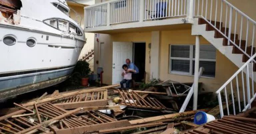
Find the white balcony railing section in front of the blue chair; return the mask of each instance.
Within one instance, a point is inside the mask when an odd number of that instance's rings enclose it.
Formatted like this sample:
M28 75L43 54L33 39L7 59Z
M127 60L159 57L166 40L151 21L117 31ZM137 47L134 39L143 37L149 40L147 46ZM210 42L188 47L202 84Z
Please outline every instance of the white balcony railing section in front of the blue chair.
M187 0L145 0L144 20L187 15Z

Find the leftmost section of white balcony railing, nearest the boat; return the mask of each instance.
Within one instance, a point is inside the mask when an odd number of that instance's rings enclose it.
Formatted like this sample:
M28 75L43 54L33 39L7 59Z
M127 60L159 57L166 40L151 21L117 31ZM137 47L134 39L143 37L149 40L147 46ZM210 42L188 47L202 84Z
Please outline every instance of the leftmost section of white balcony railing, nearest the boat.
M85 9L85 28L107 25L107 4Z

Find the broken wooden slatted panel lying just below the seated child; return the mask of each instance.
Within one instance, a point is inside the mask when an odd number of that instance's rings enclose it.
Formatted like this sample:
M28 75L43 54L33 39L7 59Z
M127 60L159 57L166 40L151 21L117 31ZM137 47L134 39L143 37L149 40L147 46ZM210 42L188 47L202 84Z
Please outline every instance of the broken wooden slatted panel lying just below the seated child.
M150 108L150 109L166 109L166 107L157 99L150 97L141 97L138 93L130 90L119 90L118 92L122 97L121 105L140 107L140 108Z

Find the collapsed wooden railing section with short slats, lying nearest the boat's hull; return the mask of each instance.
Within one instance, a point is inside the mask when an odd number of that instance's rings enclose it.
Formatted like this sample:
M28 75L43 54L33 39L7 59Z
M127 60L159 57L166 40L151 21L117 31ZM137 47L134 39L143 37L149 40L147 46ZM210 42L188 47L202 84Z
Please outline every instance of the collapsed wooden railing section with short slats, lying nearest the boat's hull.
M52 103L64 109L74 109L86 106L105 106L107 105L107 90L92 91L89 93L69 96L52 101Z

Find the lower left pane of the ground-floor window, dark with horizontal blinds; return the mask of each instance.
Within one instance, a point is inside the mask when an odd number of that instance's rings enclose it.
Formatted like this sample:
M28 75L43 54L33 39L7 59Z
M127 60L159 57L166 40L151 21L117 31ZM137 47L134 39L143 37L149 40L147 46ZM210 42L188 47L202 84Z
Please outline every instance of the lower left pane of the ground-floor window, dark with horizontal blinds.
M190 62L189 60L171 60L171 71L189 72Z

